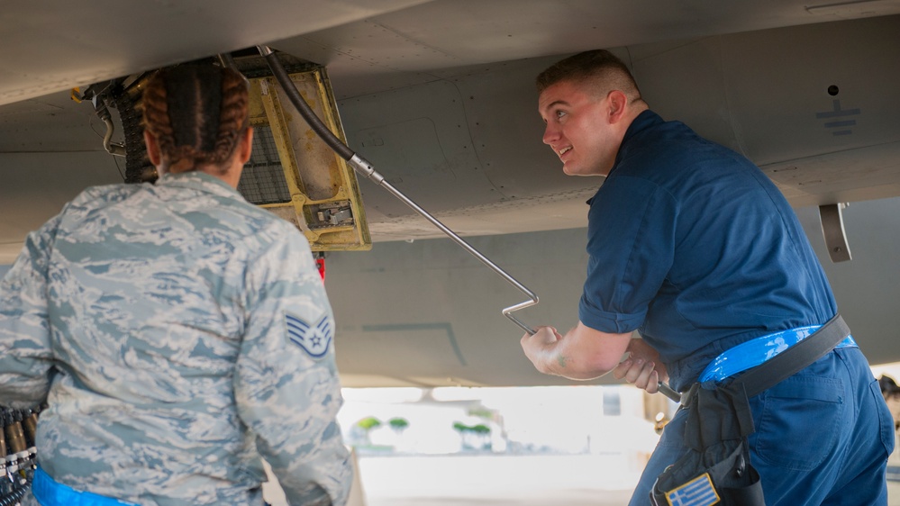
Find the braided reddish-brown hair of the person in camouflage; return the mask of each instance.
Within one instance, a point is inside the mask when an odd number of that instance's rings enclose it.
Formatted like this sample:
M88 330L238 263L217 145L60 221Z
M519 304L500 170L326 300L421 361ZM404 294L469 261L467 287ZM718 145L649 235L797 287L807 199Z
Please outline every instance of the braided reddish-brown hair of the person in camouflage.
M231 68L183 65L159 70L144 89L143 125L170 172L202 166L224 173L248 125L248 89ZM177 170L172 166L181 160Z

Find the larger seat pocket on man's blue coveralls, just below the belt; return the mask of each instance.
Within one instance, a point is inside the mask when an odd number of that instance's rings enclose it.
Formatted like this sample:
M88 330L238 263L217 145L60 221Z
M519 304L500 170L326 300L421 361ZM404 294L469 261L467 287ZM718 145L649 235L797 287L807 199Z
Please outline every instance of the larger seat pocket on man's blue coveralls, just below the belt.
M844 417L843 382L792 376L763 395L751 450L768 464L796 471L822 464L832 452Z

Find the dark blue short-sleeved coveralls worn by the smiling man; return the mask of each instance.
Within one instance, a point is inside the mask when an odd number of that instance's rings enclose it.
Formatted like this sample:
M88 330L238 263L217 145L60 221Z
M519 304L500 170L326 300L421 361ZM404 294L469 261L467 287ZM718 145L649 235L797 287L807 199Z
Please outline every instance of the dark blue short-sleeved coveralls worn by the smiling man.
M777 187L681 122L641 113L589 203L579 318L595 330L639 330L679 391L723 350L837 312ZM893 422L859 348L832 351L750 405L751 462L767 504L886 504ZM632 505L647 504L656 477L683 455L685 415L668 424Z

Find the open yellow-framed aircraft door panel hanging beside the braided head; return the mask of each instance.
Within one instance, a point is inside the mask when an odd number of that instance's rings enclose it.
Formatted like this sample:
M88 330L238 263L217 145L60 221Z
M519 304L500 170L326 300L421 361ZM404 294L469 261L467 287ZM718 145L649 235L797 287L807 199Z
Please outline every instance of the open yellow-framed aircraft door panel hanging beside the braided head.
M324 68L290 78L329 130L344 140ZM238 185L241 194L293 222L314 251L370 249L356 173L307 126L274 77L250 78L250 125L253 153Z

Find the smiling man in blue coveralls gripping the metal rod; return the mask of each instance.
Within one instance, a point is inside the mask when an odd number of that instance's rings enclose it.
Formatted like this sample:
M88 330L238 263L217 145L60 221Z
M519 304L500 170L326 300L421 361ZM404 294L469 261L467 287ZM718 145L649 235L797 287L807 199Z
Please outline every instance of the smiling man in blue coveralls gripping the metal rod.
M605 176L589 201L577 325L522 338L539 371L581 380L613 371L649 393L666 379L685 391L758 366L768 344L804 339L837 313L777 187L747 158L650 111L621 60L580 53L537 85L543 141L563 171ZM767 504L887 503L893 423L852 337L750 409L750 459ZM632 505L647 504L657 476L686 454L686 413L663 432Z

